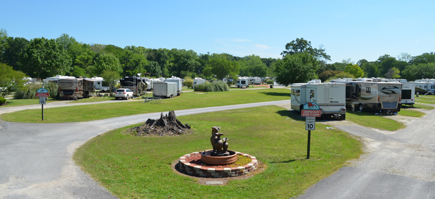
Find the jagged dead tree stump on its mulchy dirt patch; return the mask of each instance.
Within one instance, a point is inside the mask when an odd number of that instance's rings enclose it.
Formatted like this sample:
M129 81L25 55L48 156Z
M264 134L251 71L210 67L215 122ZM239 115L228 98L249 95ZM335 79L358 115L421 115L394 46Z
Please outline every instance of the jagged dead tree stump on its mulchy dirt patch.
M143 125L127 129L126 131L137 136L184 135L193 132L190 129L190 125L187 123L183 125L176 118L173 111L169 111L165 116L161 113L160 119L148 119Z

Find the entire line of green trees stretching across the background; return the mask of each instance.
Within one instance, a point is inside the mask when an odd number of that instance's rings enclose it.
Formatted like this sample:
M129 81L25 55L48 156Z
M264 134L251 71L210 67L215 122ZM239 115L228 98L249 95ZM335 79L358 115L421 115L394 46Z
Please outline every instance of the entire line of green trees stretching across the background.
M10 37L0 29L0 63L29 77L45 79L63 76L107 77L201 77L203 79L235 79L237 75L275 77L284 85L326 81L332 78L383 77L408 81L435 78L435 54L412 57L402 53L396 57L380 56L376 61L351 59L331 61L324 47L311 46L311 41L297 38L285 45L282 58L260 58L256 55L237 57L226 53L201 54L186 49L146 48L142 46L85 44L68 34L56 39L34 38L30 41ZM10 71L10 70L8 70ZM110 78L112 77L112 78Z

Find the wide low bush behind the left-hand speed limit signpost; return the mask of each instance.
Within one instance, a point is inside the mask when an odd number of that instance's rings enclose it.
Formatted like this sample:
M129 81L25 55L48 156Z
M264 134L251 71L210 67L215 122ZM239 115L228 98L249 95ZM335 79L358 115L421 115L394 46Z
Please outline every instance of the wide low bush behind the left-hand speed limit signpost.
M23 89L15 92L14 99L37 99L36 91L40 88L42 88L42 84L27 84ZM57 83L49 82L45 84L44 88L48 90L50 97L56 97L59 94Z

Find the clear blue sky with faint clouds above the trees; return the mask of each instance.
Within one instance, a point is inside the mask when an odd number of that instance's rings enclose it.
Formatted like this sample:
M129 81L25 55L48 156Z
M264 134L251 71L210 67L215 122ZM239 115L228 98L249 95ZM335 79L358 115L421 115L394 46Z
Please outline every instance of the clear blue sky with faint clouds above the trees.
M296 38L331 62L435 52L435 1L3 1L11 37L280 58Z

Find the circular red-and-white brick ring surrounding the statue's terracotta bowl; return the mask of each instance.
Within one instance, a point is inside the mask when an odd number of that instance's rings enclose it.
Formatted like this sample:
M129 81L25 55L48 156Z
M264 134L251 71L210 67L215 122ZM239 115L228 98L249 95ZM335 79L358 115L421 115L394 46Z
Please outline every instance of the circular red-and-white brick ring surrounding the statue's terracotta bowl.
M186 175L195 177L227 178L246 175L254 171L258 166L257 159L254 156L240 152L234 152L235 157L237 157L237 155L246 156L251 158L251 162L238 167L231 167L228 165L204 165L204 163L201 161L201 153L203 152L193 152L181 156L178 162L178 168L180 171Z

